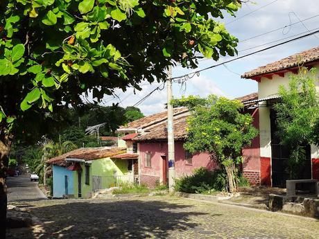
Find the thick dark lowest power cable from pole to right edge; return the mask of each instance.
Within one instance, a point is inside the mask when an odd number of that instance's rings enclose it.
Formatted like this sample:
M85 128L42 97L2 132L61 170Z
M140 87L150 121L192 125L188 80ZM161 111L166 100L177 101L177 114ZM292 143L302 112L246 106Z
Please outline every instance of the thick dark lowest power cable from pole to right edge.
M206 68L204 68L204 69L200 69L200 70L195 71L195 72L193 72L193 73L187 73L187 74L184 74L184 75L182 75L182 76L176 76L176 77L173 77L173 78L168 79L168 80L175 80L175 79L180 79L180 78L192 78L193 76L195 76L196 74L198 75L198 74L199 74L200 72L202 72L202 71L207 71L208 69L212 69L212 68L215 68L215 67L219 67L219 66L221 66L221 65L223 65L223 64L226 64L226 63L229 63L229 62L234 62L234 61L239 60L239 59L242 59L242 58L244 58L244 57L248 57L248 56L250 56L250 55L255 55L256 53L260 53L260 52L263 52L263 51L267 51L267 50L269 50L269 49L271 49L271 48L275 48L275 47L277 47L277 46L281 46L281 45L287 44L288 42L293 42L293 41L296 41L296 40L298 40L298 39L302 39L302 38L304 38L304 37L309 37L309 36L311 36L311 35L313 35L313 34L316 34L316 33L319 33L319 30L314 31L313 33L308 33L308 34L306 34L306 35L302 35L302 36L300 36L300 37L295 37L295 38L293 38L293 39L289 39L289 40L287 40L287 41L285 41L285 42L280 42L280 43L275 44L275 45L273 45L273 46L268 46L268 47L263 48L263 49L261 49L261 50L259 50L259 51L254 51L254 52L252 52L252 53L248 53L248 54L246 54L246 55L242 55L242 56L240 56L240 57L236 57L236 58L233 58L233 59L231 59L231 60L227 60L227 61L222 62L222 63L214 64L214 65L212 65L212 66L210 66L210 67L206 67Z

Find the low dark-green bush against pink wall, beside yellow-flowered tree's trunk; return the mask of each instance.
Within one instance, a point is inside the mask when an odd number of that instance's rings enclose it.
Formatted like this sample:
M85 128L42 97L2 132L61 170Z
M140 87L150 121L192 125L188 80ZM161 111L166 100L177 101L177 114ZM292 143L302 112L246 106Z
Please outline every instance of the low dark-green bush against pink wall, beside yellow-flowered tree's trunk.
M225 191L227 175L223 170L210 171L201 167L193 171L193 175L185 176L175 181L175 191L184 193L212 194Z

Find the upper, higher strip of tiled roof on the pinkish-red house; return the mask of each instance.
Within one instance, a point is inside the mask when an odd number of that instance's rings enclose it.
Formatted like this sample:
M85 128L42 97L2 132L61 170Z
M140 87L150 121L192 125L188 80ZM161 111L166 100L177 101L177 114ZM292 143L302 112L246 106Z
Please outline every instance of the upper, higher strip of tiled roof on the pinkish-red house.
M182 114L185 112L189 112L186 107L178 107L174 108L174 115ZM150 125L160 123L161 121L165 121L167 119L167 111L152 114L151 116L146 116L144 118L140 118L137 121L132 121L128 123L128 125L122 125L119 129L142 129L144 127L148 127Z

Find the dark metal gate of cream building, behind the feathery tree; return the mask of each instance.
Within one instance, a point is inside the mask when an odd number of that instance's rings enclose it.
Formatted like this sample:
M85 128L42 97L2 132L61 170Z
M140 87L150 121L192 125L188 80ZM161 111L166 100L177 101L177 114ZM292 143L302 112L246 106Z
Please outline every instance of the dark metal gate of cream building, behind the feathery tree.
M289 179L288 158L291 150L280 144L277 135L276 113L274 109L270 110L270 127L271 127L271 178L273 186L286 187L286 180ZM300 166L298 179L311 179L311 148L310 145L304 146L306 150L306 159Z

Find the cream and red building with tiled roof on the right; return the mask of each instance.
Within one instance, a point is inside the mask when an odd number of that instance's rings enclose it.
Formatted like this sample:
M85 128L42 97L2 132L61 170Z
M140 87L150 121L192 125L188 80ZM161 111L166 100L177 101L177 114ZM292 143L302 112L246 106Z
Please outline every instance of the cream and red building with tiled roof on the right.
M241 76L258 82L258 99L244 101L250 105L248 110L255 118L255 127L259 129L259 136L250 148L243 150L243 173L253 184L279 187L286 184L289 151L279 143L273 105L279 101L279 86L287 87L290 76L297 74L301 66L319 70L319 47L272 62ZM299 177L319 179L319 150L316 145L307 145L306 151L307 156L304 166L300 168Z

